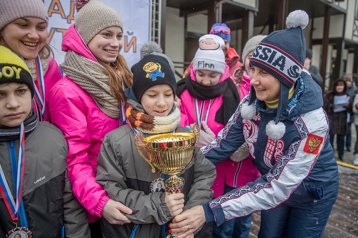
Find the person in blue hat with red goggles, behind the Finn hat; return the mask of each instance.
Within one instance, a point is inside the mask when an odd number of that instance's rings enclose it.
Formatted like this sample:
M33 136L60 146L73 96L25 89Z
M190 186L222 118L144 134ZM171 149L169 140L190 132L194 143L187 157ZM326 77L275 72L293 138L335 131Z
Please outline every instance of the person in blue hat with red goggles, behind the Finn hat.
M230 40L231 40L231 30L225 23L215 23L209 32L209 34L220 36L224 42L225 46L222 48L225 55L225 62L229 66L229 76L232 79L236 79L236 72L242 66L240 62L240 56L237 54L234 48L230 47ZM185 69L183 74L183 79L190 74L190 71L193 67L193 61L190 65Z

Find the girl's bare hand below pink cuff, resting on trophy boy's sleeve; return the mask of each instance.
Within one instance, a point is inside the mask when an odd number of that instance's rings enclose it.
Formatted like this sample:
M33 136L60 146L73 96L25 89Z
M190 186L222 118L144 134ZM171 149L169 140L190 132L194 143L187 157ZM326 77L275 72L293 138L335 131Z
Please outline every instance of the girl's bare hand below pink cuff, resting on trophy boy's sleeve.
M132 214L129 207L124 206L121 202L109 199L102 209L101 215L111 224L131 223L123 213Z

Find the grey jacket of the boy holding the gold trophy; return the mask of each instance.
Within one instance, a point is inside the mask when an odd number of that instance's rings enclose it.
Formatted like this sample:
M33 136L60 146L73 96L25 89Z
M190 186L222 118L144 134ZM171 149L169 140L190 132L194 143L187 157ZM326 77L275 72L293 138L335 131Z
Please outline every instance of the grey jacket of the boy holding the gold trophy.
M188 130L178 126L178 132ZM173 218L165 203L165 193L150 192L151 182L159 178L158 170L151 172L149 163L137 152L134 138L135 134L129 125L117 128L105 136L98 156L96 181L103 185L111 199L133 210L131 215L126 215L132 221L129 224L112 225L106 219L101 219L102 235L106 238L130 237L136 224L140 225L135 237L159 238L162 225L169 224ZM212 198L213 191L210 188L216 177L215 167L198 147L195 148L192 162L179 175L185 179L184 210Z

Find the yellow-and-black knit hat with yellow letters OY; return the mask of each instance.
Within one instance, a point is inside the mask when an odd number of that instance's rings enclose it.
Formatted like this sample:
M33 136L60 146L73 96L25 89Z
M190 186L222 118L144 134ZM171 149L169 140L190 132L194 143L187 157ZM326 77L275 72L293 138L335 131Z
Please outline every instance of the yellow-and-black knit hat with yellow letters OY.
M31 97L34 97L34 82L29 68L19 56L4 46L0 46L0 84L2 83L24 83L29 87Z

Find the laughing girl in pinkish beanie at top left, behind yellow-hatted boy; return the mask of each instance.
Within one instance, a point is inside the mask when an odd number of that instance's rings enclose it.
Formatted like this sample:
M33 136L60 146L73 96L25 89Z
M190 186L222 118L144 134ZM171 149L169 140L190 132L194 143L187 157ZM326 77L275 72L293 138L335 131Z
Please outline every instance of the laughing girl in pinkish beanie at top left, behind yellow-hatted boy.
M0 45L25 61L34 80L34 109L38 120L50 121L48 93L62 74L46 43L48 14L45 5L40 0L0 1L0 12Z

